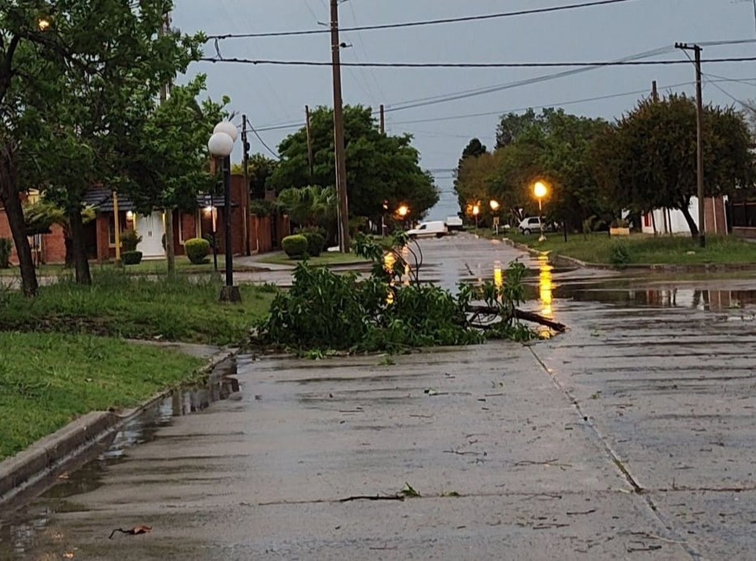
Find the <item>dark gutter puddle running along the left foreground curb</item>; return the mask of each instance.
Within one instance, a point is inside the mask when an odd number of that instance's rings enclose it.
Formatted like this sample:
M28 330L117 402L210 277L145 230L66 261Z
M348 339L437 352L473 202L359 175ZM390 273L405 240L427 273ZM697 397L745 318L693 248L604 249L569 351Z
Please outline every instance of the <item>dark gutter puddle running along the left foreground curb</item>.
M12 559L32 550L35 541L49 532L47 525L54 513L85 510L73 497L99 488L110 466L124 461L130 448L154 441L157 432L171 425L175 417L200 412L237 393L239 381L233 377L236 373L234 360L219 364L205 385L175 391L127 422L119 432L85 454L95 457L84 460L81 467L63 474L56 472L54 479L36 485L39 493L39 489L54 481L36 497L29 499L29 494L35 492L31 490L18 500L11 500L0 513L0 559Z

